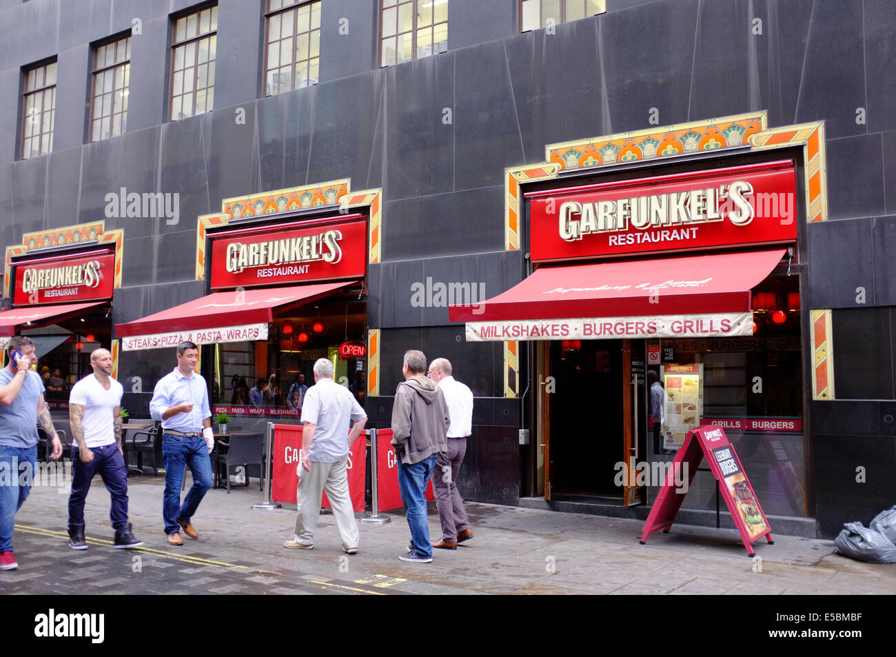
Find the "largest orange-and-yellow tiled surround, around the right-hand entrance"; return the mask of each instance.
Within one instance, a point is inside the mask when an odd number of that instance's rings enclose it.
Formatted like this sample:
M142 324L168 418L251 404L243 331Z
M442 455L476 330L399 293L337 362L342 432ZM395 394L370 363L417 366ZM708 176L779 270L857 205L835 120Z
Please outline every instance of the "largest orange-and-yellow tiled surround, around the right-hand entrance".
M751 151L801 146L806 188L806 220L828 219L824 123L813 122L769 129L766 113L751 112L692 123L648 128L631 133L553 143L545 147L545 161L504 169L504 249L520 248L523 208L521 184L551 180L561 171L591 169L633 160L662 160L691 152L719 151L748 145ZM834 399L831 310L811 310L813 351L812 395ZM504 394L515 397L517 345L504 345Z

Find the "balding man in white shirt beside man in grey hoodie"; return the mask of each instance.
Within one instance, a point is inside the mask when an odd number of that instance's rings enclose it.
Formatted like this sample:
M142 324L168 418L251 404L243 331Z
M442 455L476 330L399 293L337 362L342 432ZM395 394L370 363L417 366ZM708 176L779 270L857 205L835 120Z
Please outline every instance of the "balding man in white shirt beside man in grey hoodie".
M473 393L466 385L454 380L448 359L435 359L427 374L442 390L448 417L451 418L448 451L439 454L433 471L435 506L442 521L442 539L433 543L433 547L457 549L458 543L473 538L467 512L463 510L461 492L457 489L457 475L467 454L467 438L473 425Z

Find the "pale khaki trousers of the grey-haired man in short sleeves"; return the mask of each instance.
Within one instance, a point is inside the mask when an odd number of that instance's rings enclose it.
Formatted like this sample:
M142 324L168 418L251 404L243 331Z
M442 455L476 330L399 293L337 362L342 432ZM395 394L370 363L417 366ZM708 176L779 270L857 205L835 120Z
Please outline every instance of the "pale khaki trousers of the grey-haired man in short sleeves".
M311 471L304 469L298 479L296 516L296 540L311 545L314 543L314 529L321 514L321 492L326 490L330 499L336 527L345 549L358 548L358 523L349 497L349 474L347 459L335 463L311 462Z

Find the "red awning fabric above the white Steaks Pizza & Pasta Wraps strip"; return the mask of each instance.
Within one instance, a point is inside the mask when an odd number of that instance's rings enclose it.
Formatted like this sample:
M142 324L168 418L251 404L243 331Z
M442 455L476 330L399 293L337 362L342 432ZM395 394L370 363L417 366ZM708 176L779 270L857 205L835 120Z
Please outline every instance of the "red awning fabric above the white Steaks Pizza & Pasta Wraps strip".
M175 333L271 322L274 310L301 306L358 281L296 285L289 288L229 290L187 301L142 319L116 324L116 337Z

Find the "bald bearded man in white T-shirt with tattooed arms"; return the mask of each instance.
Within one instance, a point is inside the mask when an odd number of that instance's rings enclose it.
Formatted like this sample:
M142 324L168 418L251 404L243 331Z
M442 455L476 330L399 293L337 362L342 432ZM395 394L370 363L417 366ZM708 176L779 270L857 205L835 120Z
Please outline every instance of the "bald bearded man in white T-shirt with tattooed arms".
M139 548L143 542L127 522L127 467L121 442L122 385L112 378L112 354L105 349L90 354L93 374L73 385L68 402L72 435L72 494L68 497L68 546L87 549L84 540L84 501L93 475L102 477L112 496L109 519L115 528L113 548Z

